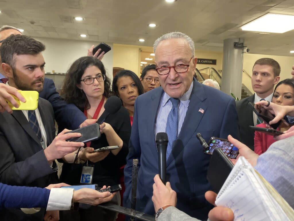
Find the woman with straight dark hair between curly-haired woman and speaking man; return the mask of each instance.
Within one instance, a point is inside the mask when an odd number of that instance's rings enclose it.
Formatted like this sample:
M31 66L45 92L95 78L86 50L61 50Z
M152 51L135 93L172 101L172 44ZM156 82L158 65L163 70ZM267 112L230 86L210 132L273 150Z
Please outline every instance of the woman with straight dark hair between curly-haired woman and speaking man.
M112 81L112 93L113 95L121 98L123 106L128 110L130 115L131 124L133 123L134 104L136 98L144 93L144 89L139 77L130 70L121 70ZM120 184L122 186L121 204L123 201L123 192L125 191L124 180L123 180L123 169L124 165L120 168ZM117 221L123 221L124 215L119 214Z

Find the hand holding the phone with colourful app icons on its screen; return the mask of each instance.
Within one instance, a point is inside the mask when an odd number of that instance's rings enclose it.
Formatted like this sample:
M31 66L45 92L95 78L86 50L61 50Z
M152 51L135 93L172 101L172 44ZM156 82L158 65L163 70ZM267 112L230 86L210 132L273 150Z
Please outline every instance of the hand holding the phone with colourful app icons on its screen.
M240 141L236 140L231 135L228 136L228 140L239 149L239 155L237 156L237 158L230 159L230 161L232 161L233 164L236 164L239 157L243 156L252 166L256 165L258 154L255 154L254 151L252 151L248 146L242 144Z

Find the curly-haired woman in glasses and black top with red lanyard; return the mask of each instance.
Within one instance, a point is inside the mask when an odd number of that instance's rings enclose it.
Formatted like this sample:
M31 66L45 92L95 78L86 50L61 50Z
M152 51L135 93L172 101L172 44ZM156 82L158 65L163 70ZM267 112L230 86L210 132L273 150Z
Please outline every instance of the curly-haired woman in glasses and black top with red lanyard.
M107 98L111 95L110 84L100 60L95 57L81 57L67 71L61 94L68 103L73 103L82 110L88 119L98 119L104 111ZM106 117L100 125L101 138L91 144L87 143L87 147L78 153L78 162L86 161L86 164L72 164L76 153L64 158L67 163L62 167L61 182L78 185L82 173L92 173L92 183L98 184L98 187L119 184L119 168L125 164L131 135L128 117L128 111L123 106L118 112ZM118 149L92 153L94 149L116 145L119 146ZM120 195L116 194L112 202L120 204ZM116 212L92 206L88 209L80 207L77 212L64 213L61 220L112 221L116 217Z

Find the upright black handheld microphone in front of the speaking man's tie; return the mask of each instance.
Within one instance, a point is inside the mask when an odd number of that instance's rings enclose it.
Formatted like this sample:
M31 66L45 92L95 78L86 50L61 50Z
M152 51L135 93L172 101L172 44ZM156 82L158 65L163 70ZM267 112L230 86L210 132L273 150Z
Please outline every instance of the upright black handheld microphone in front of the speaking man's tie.
M161 181L166 184L166 149L168 144L167 133L157 133L156 138L156 148L158 151L158 168L159 176Z

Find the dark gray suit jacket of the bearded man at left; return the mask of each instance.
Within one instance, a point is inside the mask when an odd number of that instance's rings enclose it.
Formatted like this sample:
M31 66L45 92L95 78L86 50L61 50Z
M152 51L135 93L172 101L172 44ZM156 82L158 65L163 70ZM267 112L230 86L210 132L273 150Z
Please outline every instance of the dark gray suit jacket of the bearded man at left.
M39 98L38 109L47 135L47 146L55 137L51 104ZM21 110L0 113L0 182L31 187L46 187L58 181L57 167L47 162L44 150ZM0 210L4 220L42 220L44 209L34 215L21 210Z

